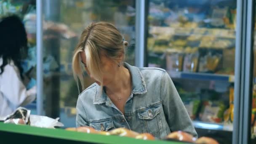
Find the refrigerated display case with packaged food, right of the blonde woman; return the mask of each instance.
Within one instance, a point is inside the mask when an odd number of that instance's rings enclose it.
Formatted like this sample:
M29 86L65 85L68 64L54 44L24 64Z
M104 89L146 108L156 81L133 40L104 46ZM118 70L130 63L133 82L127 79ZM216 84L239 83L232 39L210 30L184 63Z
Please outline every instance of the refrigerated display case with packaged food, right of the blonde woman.
M198 135L254 144L255 1L146 2L146 66L167 70Z

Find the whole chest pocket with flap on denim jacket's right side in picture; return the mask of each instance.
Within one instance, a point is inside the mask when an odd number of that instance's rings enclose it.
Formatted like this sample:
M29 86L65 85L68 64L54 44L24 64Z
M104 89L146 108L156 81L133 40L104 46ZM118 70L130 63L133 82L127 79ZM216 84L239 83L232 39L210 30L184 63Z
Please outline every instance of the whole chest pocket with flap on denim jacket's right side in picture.
M145 110L138 110L138 117L141 129L144 133L151 133L155 137L160 137L162 129L161 105L149 107Z

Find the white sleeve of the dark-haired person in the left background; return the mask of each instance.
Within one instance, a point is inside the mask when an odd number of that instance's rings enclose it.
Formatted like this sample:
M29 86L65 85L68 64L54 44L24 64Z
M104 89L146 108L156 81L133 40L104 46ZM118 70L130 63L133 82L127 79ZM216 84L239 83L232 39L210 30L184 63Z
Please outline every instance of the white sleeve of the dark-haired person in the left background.
M27 91L21 81L17 67L10 64L6 65L1 77L0 91L15 107L28 104L35 100L35 88Z

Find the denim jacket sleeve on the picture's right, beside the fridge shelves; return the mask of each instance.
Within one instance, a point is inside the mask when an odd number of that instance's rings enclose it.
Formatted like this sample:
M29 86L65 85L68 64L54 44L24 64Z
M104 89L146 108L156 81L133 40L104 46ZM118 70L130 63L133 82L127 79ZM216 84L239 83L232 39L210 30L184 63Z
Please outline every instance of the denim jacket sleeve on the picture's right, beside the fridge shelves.
M167 72L163 74L161 82L161 97L163 110L171 132L185 131L197 137L197 132L192 124L179 93Z

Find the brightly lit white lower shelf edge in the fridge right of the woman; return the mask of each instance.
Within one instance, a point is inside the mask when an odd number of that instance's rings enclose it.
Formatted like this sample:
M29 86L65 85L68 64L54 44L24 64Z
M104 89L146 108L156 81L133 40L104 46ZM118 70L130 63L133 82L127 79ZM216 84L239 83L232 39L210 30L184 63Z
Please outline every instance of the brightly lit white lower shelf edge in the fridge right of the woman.
M201 121L193 121L193 125L195 128L220 130L220 131L233 131L232 124L207 123L207 122L201 122Z

